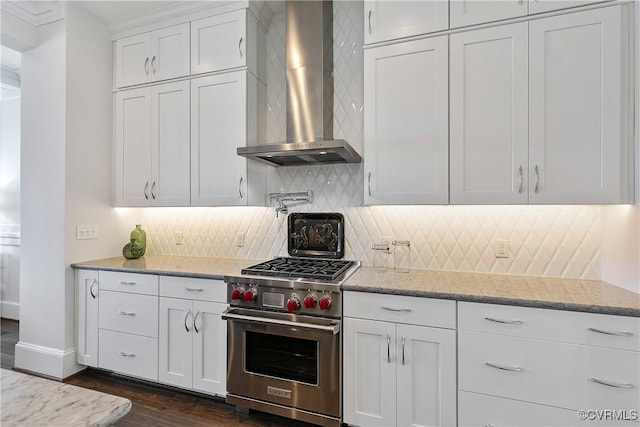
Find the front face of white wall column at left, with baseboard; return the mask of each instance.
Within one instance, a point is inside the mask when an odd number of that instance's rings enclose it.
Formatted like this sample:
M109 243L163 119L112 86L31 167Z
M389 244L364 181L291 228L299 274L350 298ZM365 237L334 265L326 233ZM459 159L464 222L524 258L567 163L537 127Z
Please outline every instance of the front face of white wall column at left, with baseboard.
M16 367L61 378L66 342L64 21L22 57L21 322Z

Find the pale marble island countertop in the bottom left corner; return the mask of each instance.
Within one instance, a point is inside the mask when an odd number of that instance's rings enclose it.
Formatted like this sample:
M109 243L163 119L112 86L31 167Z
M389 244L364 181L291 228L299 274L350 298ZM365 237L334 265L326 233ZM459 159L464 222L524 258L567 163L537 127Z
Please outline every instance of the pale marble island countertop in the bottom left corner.
M129 399L2 369L2 427L109 426L131 409Z

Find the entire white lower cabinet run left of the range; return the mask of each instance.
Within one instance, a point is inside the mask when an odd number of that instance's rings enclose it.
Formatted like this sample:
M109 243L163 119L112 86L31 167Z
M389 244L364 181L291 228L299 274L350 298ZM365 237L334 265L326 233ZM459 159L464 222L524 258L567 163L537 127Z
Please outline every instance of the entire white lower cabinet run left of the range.
M221 280L78 269L78 363L224 396L226 289Z

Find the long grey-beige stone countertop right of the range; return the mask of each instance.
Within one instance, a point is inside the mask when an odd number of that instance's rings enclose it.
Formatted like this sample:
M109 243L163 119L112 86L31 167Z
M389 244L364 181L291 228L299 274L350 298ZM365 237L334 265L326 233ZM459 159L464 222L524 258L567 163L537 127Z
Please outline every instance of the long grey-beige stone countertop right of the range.
M600 280L361 267L342 289L640 317L640 294Z

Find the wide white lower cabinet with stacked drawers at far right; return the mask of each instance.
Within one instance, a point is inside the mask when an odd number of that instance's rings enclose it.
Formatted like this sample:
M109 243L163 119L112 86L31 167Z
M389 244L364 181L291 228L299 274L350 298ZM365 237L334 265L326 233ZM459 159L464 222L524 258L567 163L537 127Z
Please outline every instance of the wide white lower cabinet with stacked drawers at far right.
M632 317L458 303L460 425L634 425L639 330Z

